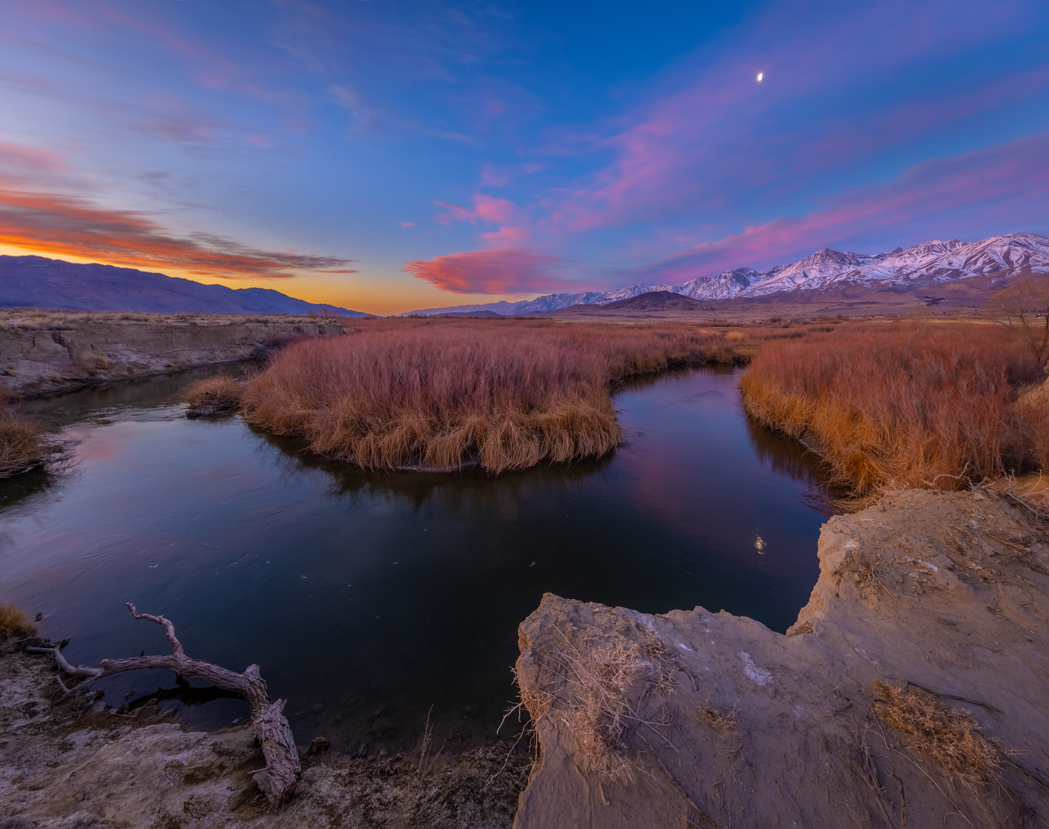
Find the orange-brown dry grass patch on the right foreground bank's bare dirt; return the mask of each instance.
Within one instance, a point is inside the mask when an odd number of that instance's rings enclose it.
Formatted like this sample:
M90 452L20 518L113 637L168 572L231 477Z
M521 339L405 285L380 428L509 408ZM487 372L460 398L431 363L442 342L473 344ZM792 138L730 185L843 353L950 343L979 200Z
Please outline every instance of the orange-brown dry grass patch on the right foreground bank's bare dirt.
M878 699L874 711L909 740L912 748L935 760L967 786L990 780L1001 749L980 730L964 708L950 708L932 694L881 680L872 683Z

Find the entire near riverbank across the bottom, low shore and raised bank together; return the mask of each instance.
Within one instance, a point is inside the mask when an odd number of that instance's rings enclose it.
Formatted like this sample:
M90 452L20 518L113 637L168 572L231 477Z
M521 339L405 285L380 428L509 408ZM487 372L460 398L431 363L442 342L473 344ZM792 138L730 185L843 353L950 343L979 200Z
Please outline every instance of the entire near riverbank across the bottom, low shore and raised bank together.
M1042 826L1047 540L1008 494L891 493L825 525L787 635L548 594L520 628L539 751L519 806L526 757L416 748L304 751L271 810L247 729L63 698L46 659L6 653L0 801L41 829Z

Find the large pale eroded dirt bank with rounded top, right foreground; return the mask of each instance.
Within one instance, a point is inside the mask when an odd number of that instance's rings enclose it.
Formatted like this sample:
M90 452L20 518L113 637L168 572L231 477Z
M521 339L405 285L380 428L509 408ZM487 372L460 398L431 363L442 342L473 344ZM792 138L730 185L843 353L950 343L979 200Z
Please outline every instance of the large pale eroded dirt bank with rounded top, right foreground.
M825 525L786 636L548 594L520 626L541 751L514 826L1046 826L1047 543L989 491L893 493ZM893 688L926 720L889 725Z

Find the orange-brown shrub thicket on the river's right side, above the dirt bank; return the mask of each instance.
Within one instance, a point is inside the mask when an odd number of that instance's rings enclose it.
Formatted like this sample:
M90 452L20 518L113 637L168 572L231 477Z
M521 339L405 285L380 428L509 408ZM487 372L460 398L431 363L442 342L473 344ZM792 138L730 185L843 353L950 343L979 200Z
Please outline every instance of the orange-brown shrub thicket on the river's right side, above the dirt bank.
M1014 405L1043 377L1005 328L896 323L771 343L740 385L751 416L805 440L863 494L1044 465L1046 418Z

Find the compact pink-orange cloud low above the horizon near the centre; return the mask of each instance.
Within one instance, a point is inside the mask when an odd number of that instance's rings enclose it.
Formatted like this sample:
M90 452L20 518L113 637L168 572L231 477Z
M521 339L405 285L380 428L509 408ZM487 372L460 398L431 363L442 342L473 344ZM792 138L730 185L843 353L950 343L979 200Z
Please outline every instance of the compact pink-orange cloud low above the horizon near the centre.
M466 251L407 262L404 270L453 294L531 294L563 289L551 274L557 258L508 248Z

